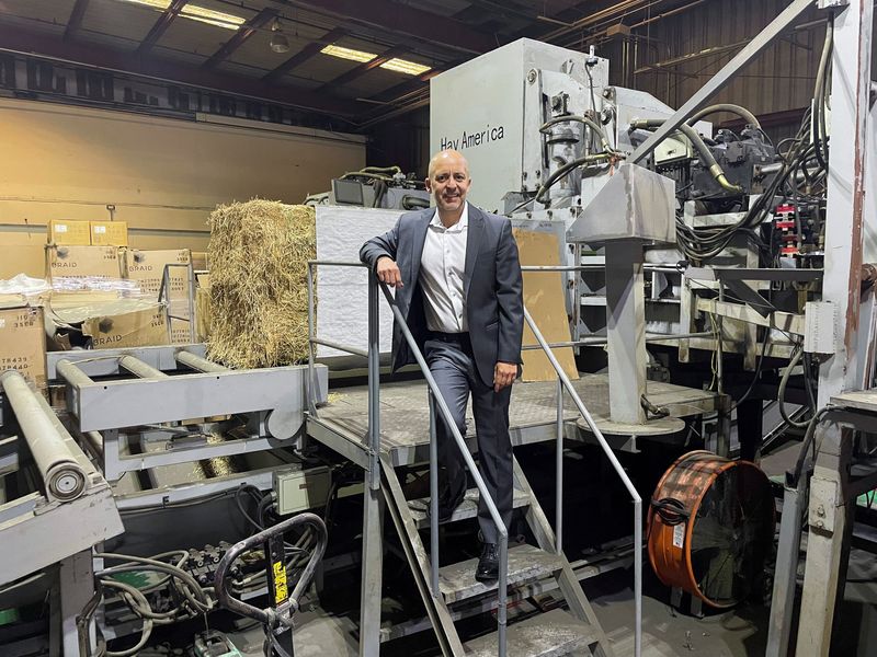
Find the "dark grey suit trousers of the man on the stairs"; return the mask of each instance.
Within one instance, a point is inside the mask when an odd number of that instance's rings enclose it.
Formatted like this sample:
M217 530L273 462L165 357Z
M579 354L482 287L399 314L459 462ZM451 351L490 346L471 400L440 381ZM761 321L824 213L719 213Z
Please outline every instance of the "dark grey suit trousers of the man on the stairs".
M466 404L472 397L475 433L478 439L479 470L488 493L505 527L512 520L512 441L509 437L511 385L493 392L478 376L467 334L433 334L424 344L424 355L454 423L466 437ZM447 485L457 491L466 485L466 466L454 436L436 406L438 462L444 465ZM478 504L478 523L486 543L497 543L497 526L483 499Z

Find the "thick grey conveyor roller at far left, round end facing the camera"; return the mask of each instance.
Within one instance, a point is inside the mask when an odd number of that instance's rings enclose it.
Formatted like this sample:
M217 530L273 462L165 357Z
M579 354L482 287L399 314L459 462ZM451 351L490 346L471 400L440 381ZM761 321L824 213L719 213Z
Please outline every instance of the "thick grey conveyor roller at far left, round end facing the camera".
M55 417L48 403L45 400L43 404L39 403L39 393L31 390L21 372L16 370L3 372L0 376L0 387L9 399L15 419L43 477L46 497L58 502L72 502L78 498L84 493L88 479L86 470L65 443L65 439L72 442L70 434Z

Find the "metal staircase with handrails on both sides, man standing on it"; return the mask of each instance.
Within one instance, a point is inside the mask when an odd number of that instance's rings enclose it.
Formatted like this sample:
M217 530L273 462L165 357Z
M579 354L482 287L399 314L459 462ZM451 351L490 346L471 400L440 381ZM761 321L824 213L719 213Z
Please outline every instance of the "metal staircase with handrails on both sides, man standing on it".
M556 531L548 522L520 464L514 462L515 492L513 506L525 509L524 516L534 537L535 545L509 545L508 528L503 525L496 505L486 499L488 510L499 535L500 569L498 581L491 585L478 583L475 570L478 560L440 567L438 554L438 468L437 438L435 435L436 414L441 413L453 435L454 442L463 457L476 488L467 491L464 503L457 508L449 522L474 518L477 512L479 495L487 495L479 469L469 453L456 424L451 420L451 412L420 353L405 318L396 307L389 289L379 284L374 275L368 277L368 349L363 351L327 342L315 335L312 268L317 265L363 266L360 263L311 261L308 267L308 343L310 346L308 365L314 367L314 345L322 344L351 354L368 358L368 427L360 447L361 458L356 459L366 471L363 516L363 584L360 626L361 657L376 657L381 639L392 634L380 631L381 592L381 514L384 506L392 519L399 534L402 550L410 566L426 614L438 639L445 657L485 656L492 657L548 657L576 655L584 657L614 657L614 653L591 608L581 586L562 553L562 491L563 491L563 395L568 394L589 426L604 454L627 488L634 502L634 596L635 596L635 657L641 650L641 570L642 570L642 500L613 453L600 427L594 423L581 397L563 372L551 348L545 341L533 318L524 309L524 316L551 367L557 373L557 420L556 420ZM391 454L381 448L380 434L380 383L378 366L378 297L384 293L395 320L408 342L408 346L421 368L429 389L430 407L430 497L407 499L397 476ZM312 377L308 377L309 385ZM316 405L310 395L310 414L317 417ZM319 424L319 423L316 423ZM318 438L319 439L319 438ZM324 438L323 440L327 440ZM352 453L354 441L335 442L341 453ZM328 445L328 442L327 442ZM414 507L412 509L412 506ZM426 507L430 512L426 512ZM429 548L421 539L421 531L428 530ZM553 609L535 614L519 623L506 626L509 601L520 600L546 590L560 591L568 611ZM477 611L496 611L497 631L480 636L466 644L457 632L455 622L467 614L464 608ZM429 625L422 626L428 629Z

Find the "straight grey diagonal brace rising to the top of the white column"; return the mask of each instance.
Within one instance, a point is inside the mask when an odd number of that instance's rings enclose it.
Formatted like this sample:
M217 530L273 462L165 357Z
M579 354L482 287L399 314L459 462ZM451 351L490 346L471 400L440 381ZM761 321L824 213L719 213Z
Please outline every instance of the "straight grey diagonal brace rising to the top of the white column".
M794 0L770 25L762 30L755 38L750 41L731 61L725 65L718 73L702 87L686 103L680 107L673 116L668 118L646 141L643 141L630 155L629 162L639 163L654 147L667 138L673 130L677 129L695 112L706 106L716 93L728 84L728 82L748 64L755 59L773 41L787 30L791 23L804 12L813 5L813 0Z

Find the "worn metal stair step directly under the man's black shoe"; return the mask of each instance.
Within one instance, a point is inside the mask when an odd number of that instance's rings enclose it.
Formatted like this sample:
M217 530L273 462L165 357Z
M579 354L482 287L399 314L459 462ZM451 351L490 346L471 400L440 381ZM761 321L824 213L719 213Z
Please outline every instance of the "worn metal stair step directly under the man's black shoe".
M497 584L482 584L475 579L478 560L444 566L438 569L438 589L445 602L458 602L496 591ZM509 549L509 587L547 577L562 567L562 558L534 545L513 545Z

